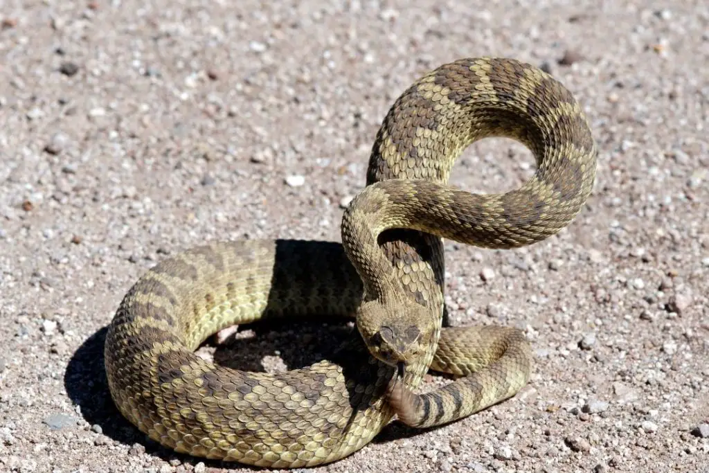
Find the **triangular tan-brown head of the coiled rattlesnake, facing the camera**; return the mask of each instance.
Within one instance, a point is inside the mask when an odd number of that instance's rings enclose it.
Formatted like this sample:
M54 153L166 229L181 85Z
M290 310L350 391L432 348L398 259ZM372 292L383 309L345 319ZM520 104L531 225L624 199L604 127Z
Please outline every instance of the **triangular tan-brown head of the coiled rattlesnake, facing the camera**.
M367 301L357 311L357 329L369 352L386 365L409 365L422 355L435 333L428 308Z

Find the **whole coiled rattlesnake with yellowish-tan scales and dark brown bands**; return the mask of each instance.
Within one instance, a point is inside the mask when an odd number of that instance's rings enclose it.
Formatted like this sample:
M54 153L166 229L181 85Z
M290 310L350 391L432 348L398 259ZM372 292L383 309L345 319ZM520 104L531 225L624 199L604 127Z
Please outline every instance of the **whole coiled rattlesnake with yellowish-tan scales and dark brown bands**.
M449 187L462 150L492 136L525 144L535 174L504 194ZM350 455L395 415L427 427L507 399L527 382L530 346L513 328L442 327L442 238L488 248L543 240L571 223L595 175L586 117L556 79L511 59L442 65L384 118L342 245L213 243L138 279L106 336L113 401L177 452L302 467ZM229 325L313 315L354 316L357 329L309 367L244 372L194 354ZM414 394L429 368L457 378Z

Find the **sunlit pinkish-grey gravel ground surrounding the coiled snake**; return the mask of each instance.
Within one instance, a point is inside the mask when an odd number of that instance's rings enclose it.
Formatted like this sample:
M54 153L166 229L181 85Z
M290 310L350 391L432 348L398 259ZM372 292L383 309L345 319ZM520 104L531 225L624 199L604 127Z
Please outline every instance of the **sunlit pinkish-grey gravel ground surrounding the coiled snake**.
M447 245L452 322L525 328L535 375L320 470L709 472L706 2L1 5L0 471L230 469L116 411L102 347L123 294L206 240L339 240L393 99L444 62L496 55L562 79L600 147L596 190L558 237ZM525 148L489 139L453 181L501 191L532 172ZM234 362L286 369L319 355L294 350L304 336L338 330L247 330Z

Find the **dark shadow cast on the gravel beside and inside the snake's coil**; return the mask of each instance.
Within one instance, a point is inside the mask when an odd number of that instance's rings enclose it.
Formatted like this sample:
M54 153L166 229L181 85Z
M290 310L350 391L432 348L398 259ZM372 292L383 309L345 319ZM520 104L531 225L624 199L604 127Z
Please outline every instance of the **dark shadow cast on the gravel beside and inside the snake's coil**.
M265 372L267 369L298 369L324 358L337 357L337 352L354 333L352 323L323 323L301 321L282 323L274 330L262 323L252 323L239 328L240 333L223 344L215 346L208 340L200 350L211 352L218 365ZM242 331L244 330L244 331ZM97 330L74 352L64 375L64 385L69 399L79 407L79 413L90 425L98 425L101 432L115 443L135 445L150 455L169 461L178 459L187 464L205 462L213 467L230 467L233 464L218 460L205 460L182 455L147 437L129 423L118 411L108 391L104 366L104 344L108 327ZM303 340L310 340L303 343ZM423 430L390 423L376 436L374 442L384 443L408 438ZM136 445L137 444L137 445ZM246 467L246 465L239 465ZM254 467L255 469L259 469Z

